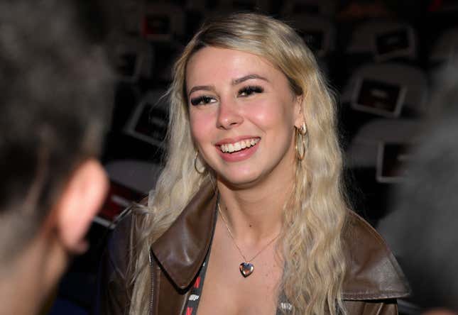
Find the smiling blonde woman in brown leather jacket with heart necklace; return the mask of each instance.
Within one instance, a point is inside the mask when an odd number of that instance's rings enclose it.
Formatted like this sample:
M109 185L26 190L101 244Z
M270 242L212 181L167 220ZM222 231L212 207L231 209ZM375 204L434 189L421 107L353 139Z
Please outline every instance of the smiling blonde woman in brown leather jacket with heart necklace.
M347 210L334 101L288 26L206 23L174 68L167 164L116 228L106 314L395 314L408 294Z

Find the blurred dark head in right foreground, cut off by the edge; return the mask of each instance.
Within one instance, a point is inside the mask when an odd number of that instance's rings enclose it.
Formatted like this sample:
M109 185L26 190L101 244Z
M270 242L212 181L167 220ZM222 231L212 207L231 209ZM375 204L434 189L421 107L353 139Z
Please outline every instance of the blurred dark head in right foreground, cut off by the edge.
M379 230L398 256L422 309L458 312L458 76L440 75L411 177ZM427 314L452 314L438 309Z

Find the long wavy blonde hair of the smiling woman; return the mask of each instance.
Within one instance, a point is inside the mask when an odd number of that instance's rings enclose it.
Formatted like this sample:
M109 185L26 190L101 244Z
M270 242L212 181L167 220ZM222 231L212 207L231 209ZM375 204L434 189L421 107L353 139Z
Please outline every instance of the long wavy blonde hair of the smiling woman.
M168 90L170 121L166 165L148 205L139 209L138 255L132 264L131 314L147 314L148 253L151 243L175 221L202 182L213 180L194 167L185 72L190 57L207 46L261 56L278 67L302 96L307 151L298 162L293 194L283 211L284 270L279 284L293 314L345 314L342 285L346 270L342 231L347 203L342 189L342 153L336 134L334 99L315 57L293 28L257 13L236 13L205 23L173 68Z

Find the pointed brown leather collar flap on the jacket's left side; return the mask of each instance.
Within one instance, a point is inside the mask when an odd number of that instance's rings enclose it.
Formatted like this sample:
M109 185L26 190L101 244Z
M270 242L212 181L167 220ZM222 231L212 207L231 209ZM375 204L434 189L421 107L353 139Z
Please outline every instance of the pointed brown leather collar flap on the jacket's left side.
M190 286L212 243L217 190L206 182L165 233L151 245L165 273L180 289Z

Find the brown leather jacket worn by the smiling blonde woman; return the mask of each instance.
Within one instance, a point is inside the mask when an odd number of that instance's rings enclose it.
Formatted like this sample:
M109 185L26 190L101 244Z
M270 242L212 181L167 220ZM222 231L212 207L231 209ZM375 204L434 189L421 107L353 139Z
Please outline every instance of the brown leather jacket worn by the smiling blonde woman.
M216 201L214 189L200 189L151 246L151 314L185 314L192 280L212 240ZM131 287L126 286L125 270L134 255L135 220L135 216L129 215L116 226L104 254L97 314L129 314ZM349 257L343 288L348 314L397 314L396 298L409 294L408 284L381 236L351 212L344 241Z

